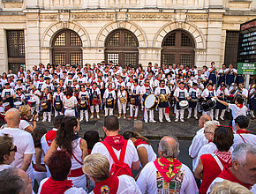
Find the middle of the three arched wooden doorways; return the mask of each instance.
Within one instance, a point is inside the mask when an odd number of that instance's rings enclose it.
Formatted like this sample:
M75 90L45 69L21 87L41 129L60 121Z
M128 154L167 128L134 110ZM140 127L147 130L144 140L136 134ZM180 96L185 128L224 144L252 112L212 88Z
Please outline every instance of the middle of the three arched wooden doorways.
M124 65L138 65L139 63L139 42L131 31L117 29L111 32L105 41L105 61Z

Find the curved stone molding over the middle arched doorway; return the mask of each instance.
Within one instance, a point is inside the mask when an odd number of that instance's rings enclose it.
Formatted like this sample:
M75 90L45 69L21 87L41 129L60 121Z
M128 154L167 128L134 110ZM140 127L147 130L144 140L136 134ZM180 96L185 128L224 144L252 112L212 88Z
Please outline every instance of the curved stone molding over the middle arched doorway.
M116 30L118 28L125 28L127 30L130 30L135 36L137 37L139 41L139 47L145 48L147 47L147 37L146 34L143 32L143 30L137 26L136 24L132 23L131 21L117 21L117 22L111 22L107 24L106 26L102 27L102 30L97 35L95 46L96 47L104 47L105 40L109 33L111 33L113 30Z

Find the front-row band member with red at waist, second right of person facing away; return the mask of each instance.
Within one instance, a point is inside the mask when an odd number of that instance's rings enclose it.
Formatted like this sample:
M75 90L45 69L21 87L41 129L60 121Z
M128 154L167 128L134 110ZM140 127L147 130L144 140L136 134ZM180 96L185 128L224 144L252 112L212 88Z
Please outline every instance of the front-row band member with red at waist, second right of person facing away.
M103 84L103 82L101 82ZM102 86L101 84L99 86ZM100 88L97 87L97 83L93 83L93 88L90 90L90 108L91 108L91 117L94 118L94 108L96 109L97 119L100 118L99 112L100 112L100 105L102 104L102 95Z

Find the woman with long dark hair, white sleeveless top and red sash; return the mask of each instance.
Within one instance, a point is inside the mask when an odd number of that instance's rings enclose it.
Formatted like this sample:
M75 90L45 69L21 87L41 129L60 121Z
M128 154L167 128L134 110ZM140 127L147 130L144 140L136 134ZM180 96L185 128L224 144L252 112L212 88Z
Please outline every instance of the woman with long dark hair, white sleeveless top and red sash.
M49 165L49 157L57 149L67 151L72 156L72 169L68 179L72 180L75 187L86 189L87 176L84 175L82 166L87 156L87 141L79 138L79 129L79 120L75 116L65 116L43 161Z

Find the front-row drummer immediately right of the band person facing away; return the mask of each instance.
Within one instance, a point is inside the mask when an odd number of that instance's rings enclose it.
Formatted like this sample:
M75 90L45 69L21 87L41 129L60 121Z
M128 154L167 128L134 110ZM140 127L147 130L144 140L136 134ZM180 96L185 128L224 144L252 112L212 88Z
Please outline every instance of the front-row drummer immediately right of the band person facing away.
M89 93L86 91L85 86L81 86L81 91L79 92L79 110L80 110L80 120L79 122L84 120L84 114L86 116L86 122L89 121L88 116L88 99Z

